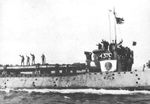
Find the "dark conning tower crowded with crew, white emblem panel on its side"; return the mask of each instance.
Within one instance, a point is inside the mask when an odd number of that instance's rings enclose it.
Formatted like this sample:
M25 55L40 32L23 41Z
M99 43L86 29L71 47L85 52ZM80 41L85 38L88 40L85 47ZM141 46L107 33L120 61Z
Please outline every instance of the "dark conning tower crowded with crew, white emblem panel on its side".
M129 47L122 46L122 42L116 44L102 40L97 44L98 49L85 52L87 67L93 68L91 62L94 62L98 71L131 71L134 62L133 51Z

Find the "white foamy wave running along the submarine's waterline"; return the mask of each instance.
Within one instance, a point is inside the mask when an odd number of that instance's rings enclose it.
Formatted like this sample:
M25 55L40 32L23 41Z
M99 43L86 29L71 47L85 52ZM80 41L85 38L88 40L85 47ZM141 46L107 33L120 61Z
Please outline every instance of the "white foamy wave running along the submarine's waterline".
M28 93L37 92L37 93L62 93L62 94L73 94L73 93L84 93L84 94L111 94L111 95L133 95L133 94L150 94L150 91L147 90L106 90L106 89L0 89L9 93L11 91L25 91Z

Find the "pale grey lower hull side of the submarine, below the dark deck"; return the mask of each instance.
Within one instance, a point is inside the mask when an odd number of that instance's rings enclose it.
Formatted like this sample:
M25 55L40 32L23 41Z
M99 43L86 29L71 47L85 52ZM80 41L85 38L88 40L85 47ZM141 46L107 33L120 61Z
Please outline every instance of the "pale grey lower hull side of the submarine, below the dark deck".
M150 90L150 70L130 72L88 72L78 75L0 76L0 88L53 89L144 89Z

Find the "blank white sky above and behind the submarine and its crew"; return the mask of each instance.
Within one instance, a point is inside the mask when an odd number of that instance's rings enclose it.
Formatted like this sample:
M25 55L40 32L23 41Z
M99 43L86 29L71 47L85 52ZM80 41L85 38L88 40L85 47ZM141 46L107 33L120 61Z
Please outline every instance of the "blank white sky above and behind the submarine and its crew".
M134 49L134 66L142 66L150 59L149 0L1 0L0 64L20 64L19 55L30 53L38 63L42 53L48 63L85 62L84 51L109 41L113 7L125 20L118 38Z

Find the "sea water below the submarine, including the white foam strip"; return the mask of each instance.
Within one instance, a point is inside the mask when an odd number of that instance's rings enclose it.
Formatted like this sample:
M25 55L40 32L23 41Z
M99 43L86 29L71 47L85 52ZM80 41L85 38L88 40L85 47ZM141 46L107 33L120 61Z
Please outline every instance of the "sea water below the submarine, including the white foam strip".
M150 91L0 89L0 104L150 104Z

